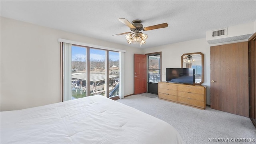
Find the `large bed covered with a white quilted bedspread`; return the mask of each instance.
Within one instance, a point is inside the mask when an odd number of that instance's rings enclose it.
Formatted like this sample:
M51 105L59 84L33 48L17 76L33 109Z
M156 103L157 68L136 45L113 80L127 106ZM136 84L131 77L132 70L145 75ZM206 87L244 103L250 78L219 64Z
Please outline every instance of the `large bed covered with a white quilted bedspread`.
M1 112L1 144L184 143L170 124L101 95Z

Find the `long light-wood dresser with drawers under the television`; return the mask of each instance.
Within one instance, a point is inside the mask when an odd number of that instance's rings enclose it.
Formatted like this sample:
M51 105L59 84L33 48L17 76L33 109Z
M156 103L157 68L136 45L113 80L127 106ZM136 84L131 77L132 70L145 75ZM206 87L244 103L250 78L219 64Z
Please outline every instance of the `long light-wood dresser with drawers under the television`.
M204 110L206 107L206 87L159 82L158 98Z

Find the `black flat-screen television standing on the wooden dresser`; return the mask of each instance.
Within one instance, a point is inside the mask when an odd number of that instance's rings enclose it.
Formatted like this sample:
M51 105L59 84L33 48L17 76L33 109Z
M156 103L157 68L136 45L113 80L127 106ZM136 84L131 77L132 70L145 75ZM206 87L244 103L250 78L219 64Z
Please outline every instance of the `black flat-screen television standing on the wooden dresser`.
M194 68L166 68L166 81L178 84L194 84L196 75Z

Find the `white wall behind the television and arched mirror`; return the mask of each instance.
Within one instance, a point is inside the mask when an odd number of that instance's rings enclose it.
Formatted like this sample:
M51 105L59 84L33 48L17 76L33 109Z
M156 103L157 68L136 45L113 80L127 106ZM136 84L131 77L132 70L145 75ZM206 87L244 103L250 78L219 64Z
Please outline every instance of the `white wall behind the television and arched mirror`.
M206 104L210 104L210 45L205 38L168 44L144 49L145 53L162 52L162 71L166 68L181 68L181 56L186 53L202 52L204 54L204 83L207 86ZM166 75L162 73L162 81Z

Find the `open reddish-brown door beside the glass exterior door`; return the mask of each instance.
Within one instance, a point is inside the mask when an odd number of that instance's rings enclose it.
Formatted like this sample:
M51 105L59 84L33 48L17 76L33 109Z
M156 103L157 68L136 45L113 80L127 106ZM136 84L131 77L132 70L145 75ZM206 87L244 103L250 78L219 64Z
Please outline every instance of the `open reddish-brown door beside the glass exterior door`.
M147 92L147 56L134 54L134 94Z

